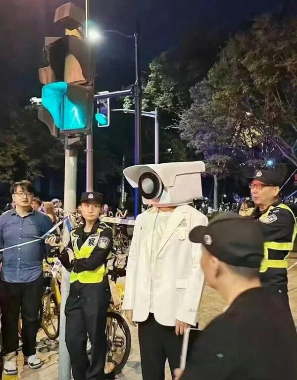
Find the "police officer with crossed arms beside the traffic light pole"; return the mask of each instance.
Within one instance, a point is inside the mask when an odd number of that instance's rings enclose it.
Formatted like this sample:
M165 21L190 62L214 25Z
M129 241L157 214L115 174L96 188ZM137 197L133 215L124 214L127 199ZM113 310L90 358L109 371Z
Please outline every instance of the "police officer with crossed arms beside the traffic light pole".
M66 345L75 380L102 380L106 338L105 326L110 303L107 259L112 247L112 230L99 221L102 196L84 192L81 197L83 225L70 232L65 248L55 237L46 242L58 246L63 266L71 270L70 292L66 301ZM87 338L92 343L91 362Z

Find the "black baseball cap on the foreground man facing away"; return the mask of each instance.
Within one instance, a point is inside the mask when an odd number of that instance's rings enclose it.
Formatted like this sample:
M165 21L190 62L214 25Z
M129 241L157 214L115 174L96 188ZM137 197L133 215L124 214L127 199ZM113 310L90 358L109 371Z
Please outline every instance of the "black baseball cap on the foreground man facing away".
M234 213L220 214L208 226L195 227L189 238L236 267L260 268L264 257L261 223Z

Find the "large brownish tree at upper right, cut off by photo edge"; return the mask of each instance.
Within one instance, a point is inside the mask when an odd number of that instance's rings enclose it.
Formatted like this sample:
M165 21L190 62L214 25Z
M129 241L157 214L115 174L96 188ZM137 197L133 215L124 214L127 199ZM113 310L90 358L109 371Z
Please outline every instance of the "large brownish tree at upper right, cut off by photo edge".
M208 73L212 107L297 165L297 19L264 15L231 38ZM254 142L252 142L253 144Z

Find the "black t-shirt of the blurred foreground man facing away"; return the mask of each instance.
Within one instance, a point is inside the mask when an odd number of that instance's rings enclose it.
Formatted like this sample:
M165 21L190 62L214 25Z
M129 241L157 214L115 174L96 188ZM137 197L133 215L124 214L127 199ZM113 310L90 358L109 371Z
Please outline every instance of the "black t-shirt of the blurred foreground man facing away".
M297 333L283 297L245 291L195 342L182 380L297 380Z

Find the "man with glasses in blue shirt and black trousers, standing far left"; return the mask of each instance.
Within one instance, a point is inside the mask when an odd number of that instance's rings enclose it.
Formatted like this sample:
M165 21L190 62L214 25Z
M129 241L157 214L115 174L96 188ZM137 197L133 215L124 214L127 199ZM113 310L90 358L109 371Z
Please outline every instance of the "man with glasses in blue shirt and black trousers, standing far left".
M11 186L15 207L0 216L0 248L9 247L42 236L52 227L49 217L32 209L34 188L31 182L16 182ZM0 306L3 372L17 374L18 319L22 313L24 362L32 369L42 363L36 355L36 334L43 294L43 268L46 246L43 240L5 250L0 281Z

